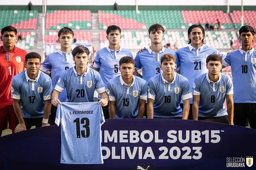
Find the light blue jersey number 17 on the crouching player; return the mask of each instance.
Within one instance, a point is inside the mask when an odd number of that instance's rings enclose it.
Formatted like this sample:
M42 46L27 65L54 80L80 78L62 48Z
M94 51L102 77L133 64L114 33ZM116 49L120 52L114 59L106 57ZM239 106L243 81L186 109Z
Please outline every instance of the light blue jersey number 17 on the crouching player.
M51 99L52 80L39 71L32 80L27 71L17 74L12 79L11 94L13 99L20 99L20 107L24 118L41 118L44 116L44 100Z

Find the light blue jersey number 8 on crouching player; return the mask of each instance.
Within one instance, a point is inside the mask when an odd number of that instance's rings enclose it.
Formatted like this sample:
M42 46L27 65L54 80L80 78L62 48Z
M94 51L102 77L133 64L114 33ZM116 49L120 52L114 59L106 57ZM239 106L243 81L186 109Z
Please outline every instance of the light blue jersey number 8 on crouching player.
M219 73L219 80L215 83L209 79L208 73L197 76L193 84L193 95L200 95L198 116L227 115L224 102L226 95L231 94L233 94L233 84L230 76Z

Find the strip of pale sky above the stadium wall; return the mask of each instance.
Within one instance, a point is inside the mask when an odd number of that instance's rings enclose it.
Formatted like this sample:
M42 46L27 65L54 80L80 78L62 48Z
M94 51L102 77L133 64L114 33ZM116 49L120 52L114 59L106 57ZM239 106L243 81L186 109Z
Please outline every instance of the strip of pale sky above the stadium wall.
M42 5L43 0L1 0L1 5L27 5L31 1L33 5ZM135 5L137 1L138 5L226 5L226 1L229 5L253 5L256 6L256 0L45 0L47 5L113 5L116 1L118 5Z

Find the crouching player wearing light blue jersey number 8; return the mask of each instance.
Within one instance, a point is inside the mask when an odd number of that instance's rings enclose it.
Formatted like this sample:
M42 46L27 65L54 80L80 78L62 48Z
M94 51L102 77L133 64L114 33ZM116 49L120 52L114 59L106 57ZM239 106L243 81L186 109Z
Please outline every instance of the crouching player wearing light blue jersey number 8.
M208 73L197 76L193 84L193 120L233 124L232 80L220 73L222 58L218 54L208 55L206 63Z

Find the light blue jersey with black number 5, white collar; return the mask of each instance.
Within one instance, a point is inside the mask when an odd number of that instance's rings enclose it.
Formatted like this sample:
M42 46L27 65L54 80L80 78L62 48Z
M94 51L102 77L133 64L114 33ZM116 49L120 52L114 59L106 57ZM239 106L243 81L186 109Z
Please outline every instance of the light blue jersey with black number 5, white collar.
M107 83L110 79L121 75L118 67L119 60L123 56L132 57L132 53L130 50L121 46L117 51L110 50L109 47L97 51L93 67L99 68L99 74L101 75L105 88L107 88Z

